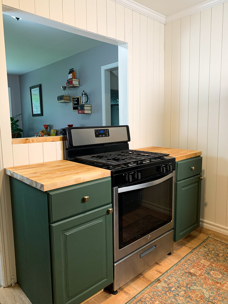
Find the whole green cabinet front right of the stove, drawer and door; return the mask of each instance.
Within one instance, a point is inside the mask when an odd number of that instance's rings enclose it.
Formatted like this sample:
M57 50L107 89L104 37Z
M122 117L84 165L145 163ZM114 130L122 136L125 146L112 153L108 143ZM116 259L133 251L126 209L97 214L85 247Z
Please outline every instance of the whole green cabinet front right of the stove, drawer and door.
M202 157L176 162L174 241L199 227Z

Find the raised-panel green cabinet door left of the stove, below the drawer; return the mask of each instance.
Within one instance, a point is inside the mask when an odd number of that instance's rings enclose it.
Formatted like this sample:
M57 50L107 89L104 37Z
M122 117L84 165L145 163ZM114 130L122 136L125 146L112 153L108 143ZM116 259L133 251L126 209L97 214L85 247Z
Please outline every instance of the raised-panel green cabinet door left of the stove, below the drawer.
M55 304L81 303L113 282L109 208L50 225Z

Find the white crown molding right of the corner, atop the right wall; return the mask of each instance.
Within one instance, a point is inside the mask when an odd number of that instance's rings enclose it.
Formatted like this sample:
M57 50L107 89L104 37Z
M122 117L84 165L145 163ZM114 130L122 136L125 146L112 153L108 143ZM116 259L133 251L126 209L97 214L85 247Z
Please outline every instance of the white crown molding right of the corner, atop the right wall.
M188 9L183 9L180 12L177 12L175 14L166 16L165 18L165 24L166 23L171 23L175 20L190 16L192 14L201 12L205 9L209 9L215 5L219 5L221 3L227 2L228 0L206 0L204 2L201 2L199 4L193 5L191 7L189 7Z

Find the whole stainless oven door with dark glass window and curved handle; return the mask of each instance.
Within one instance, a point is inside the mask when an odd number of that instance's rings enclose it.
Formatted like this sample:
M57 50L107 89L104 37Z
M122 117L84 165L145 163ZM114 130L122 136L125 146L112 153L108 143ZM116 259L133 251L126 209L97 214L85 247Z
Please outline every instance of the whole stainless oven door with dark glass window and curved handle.
M174 227L175 171L113 188L114 261Z

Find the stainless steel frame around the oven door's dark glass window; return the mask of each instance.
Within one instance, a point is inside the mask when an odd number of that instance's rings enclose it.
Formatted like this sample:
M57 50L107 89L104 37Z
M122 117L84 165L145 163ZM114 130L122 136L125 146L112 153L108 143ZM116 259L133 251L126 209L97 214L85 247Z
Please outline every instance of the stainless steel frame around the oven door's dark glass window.
M153 231L152 233L147 234L146 236L142 237L139 240L136 240L132 244L119 249L119 214L118 214L118 194L119 194L119 189L118 187L113 187L112 190L112 196L113 196L113 231L114 231L114 240L113 240L113 249L114 249L114 262L118 261L122 257L125 257L127 254L130 254L134 250L142 247L143 245L147 244L149 241L155 239L156 237L159 237L163 233L171 230L174 228L174 185L175 185L175 171L173 171L171 174L168 174L169 178L173 177L173 193L172 193L172 220L170 223L162 226L161 228ZM166 176L166 177L167 177ZM158 181L159 183L163 182L161 181L162 178L160 178ZM150 183L150 182L149 182ZM148 183L144 183L148 184ZM143 184L139 184L143 185ZM123 188L130 188L131 186L128 187L123 187ZM122 189L123 189L122 188ZM130 189L128 189L130 191Z

